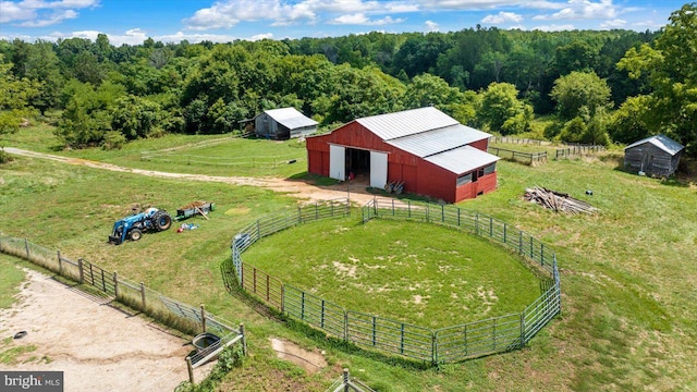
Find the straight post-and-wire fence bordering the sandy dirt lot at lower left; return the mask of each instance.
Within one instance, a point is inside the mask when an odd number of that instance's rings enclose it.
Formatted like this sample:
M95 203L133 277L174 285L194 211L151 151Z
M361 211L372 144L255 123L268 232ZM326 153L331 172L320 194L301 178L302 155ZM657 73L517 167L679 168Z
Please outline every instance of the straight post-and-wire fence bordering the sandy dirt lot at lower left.
M179 331L189 334L197 334L200 331L212 332L222 336L218 346L228 346L235 342L241 342L243 351L246 351L244 326L241 324L240 328L230 327L230 322L207 313L203 306L196 308L176 302L146 287L142 282L130 281L120 277L117 272L108 272L82 258L70 259L59 250L47 249L30 243L26 238L0 235L0 252L26 259L61 277L96 289ZM210 358L207 358L205 353L204 355L193 355L191 357L194 367L208 359Z

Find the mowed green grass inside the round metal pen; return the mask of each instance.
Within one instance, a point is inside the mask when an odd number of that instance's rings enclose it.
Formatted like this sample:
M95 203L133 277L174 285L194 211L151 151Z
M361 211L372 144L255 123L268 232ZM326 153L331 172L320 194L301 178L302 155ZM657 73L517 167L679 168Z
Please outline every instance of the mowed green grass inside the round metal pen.
M345 309L432 329L521 313L540 295L515 255L429 223L308 223L262 238L243 260Z

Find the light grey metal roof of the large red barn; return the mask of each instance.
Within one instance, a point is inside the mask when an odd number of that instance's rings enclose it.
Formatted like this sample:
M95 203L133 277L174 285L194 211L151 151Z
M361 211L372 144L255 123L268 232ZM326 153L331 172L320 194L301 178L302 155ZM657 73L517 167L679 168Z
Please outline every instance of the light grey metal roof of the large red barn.
M374 115L356 122L384 143L456 174L500 159L468 146L491 137L490 134L465 126L432 107Z

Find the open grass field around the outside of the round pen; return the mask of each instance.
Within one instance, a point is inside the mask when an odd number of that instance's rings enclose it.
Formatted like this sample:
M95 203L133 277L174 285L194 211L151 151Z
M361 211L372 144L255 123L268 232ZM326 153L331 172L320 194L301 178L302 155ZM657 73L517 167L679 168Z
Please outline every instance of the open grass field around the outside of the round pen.
M32 130L12 138L22 146L5 145L48 149ZM138 142L124 151L61 154L123 159L137 167L145 163L129 155L138 157L138 149L206 139L172 136ZM562 315L525 350L440 368L423 369L335 346L268 320L225 292L219 266L230 257L232 235L260 216L294 206L296 201L283 195L16 158L0 167L0 231L69 257L82 256L180 301L206 304L232 322L244 322L253 355L221 390L325 391L342 367L379 391L697 390L697 186L617 168L613 157L550 160L537 167L503 161L497 192L462 204L557 250ZM301 169L294 175L302 175ZM524 189L534 185L568 193L600 212L563 216L524 201ZM594 195L585 195L586 189ZM106 244L113 221L129 213L133 203L173 210L195 199L219 207L210 221L196 220L200 229L146 234L138 243L118 247ZM8 271L0 268L3 277ZM2 294L5 301L7 295ZM276 358L268 343L271 336L320 347L330 366L307 376Z

